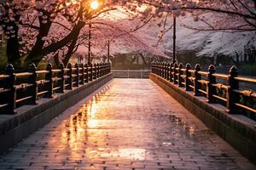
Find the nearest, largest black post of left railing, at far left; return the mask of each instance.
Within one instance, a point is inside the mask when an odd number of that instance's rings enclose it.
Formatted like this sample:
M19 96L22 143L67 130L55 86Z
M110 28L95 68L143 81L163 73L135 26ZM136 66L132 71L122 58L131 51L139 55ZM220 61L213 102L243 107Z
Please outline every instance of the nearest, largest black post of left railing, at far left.
M8 64L5 67L6 74L9 75L7 78L5 87L8 88L10 91L8 95L6 95L6 100L7 100L7 113L8 114L15 114L16 111L16 87L15 87L15 82L16 82L16 77L15 77L15 68L14 65Z

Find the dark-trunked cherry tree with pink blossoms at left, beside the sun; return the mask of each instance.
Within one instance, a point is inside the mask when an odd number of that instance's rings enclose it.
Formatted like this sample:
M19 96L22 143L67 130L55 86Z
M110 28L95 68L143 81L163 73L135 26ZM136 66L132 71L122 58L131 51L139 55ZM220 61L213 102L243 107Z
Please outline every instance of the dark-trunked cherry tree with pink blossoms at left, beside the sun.
M53 53L65 46L73 48L81 29L90 20L96 18L99 14L124 5L128 1L99 1L99 8L94 10L90 8L90 3L89 0L33 0L29 2L15 0L1 2L0 25L3 27L6 38L9 39L7 42L9 62L20 60L18 37L20 28L29 28L26 31L32 31L31 38L34 38L32 48L27 53L25 61L38 65L44 55ZM132 6L129 7L133 8ZM59 22L60 20L69 22L69 27L63 25L62 21ZM66 28L68 32L57 41L45 45L46 40L51 36L49 32L54 24ZM26 35L21 35L20 39L22 40L24 36Z

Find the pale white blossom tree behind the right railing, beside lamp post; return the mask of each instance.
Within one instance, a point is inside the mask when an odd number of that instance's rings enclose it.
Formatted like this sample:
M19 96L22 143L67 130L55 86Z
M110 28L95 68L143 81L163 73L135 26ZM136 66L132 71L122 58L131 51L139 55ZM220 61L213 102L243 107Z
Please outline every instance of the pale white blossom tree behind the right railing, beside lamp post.
M168 26L172 23L168 23ZM196 56L216 57L225 55L242 56L245 48L256 48L256 31L201 31L186 26L204 26L202 21L193 21L192 17L179 17L177 20L177 51L195 51ZM172 49L172 32L166 34L166 49Z

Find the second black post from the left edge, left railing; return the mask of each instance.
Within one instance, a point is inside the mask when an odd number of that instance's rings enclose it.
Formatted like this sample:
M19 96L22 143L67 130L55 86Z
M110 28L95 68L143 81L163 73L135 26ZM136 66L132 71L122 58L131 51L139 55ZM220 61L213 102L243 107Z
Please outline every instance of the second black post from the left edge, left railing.
M33 63L29 65L29 72L32 73L32 76L29 77L29 82L32 84L32 87L29 89L28 94L32 96L32 99L29 99L27 103L30 105L37 105L37 100L38 100L37 66Z

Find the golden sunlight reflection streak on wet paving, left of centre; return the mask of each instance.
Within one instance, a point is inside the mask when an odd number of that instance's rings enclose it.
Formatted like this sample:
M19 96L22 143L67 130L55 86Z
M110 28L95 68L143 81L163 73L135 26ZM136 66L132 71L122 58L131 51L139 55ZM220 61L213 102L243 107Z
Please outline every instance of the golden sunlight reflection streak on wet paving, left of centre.
M145 160L146 150L140 148L108 148L98 147L97 144L106 141L106 131L100 130L99 125L105 126L106 120L101 120L106 113L101 111L104 101L104 91L96 94L86 102L77 114L61 123L60 151L70 152L70 156L81 156L84 151L88 158L108 157L115 159ZM86 144L84 144L86 143Z

